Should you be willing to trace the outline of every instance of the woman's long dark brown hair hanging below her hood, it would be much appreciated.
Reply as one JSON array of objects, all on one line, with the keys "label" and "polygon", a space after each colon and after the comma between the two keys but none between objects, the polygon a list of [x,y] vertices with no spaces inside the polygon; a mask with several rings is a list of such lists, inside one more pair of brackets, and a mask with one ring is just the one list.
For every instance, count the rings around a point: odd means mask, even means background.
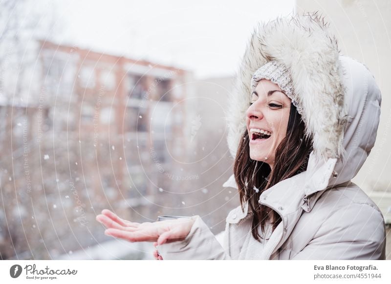
[{"label": "woman's long dark brown hair hanging below her hood", "polygon": [[[259,225],[264,232],[268,218],[271,218],[272,230],[281,222],[281,216],[276,211],[258,203],[261,193],[307,168],[308,157],[312,151],[312,138],[304,137],[304,127],[301,115],[291,103],[286,136],[276,149],[273,171],[267,163],[250,158],[250,138],[247,131],[240,140],[234,163],[234,176],[239,188],[241,206],[248,200],[248,206],[254,212],[251,231],[258,241],[261,241]],[[253,189],[254,186],[259,192]]]}]

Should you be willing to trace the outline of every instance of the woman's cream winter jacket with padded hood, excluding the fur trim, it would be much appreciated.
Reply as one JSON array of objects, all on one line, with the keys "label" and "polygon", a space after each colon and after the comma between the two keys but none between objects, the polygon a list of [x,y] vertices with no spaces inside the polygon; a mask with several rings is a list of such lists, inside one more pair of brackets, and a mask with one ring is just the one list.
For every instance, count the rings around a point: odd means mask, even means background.
[{"label": "woman's cream winter jacket with padded hood, excluding the fur trim", "polygon": [[[197,215],[185,240],[157,246],[164,260],[385,259],[382,213],[351,182],[374,145],[381,94],[363,64],[345,56],[338,61],[348,114],[344,158],[318,158],[312,152],[306,171],[262,192],[259,203],[282,218],[266,241],[252,237],[252,212],[245,203],[228,214],[222,245]],[[223,186],[238,188],[233,176]]]}]

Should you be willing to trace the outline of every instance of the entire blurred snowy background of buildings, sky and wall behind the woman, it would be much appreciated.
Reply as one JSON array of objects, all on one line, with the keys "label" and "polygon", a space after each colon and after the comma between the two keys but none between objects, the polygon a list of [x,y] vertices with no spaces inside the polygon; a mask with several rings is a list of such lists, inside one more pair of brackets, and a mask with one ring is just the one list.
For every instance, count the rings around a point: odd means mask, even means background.
[{"label": "entire blurred snowy background of buildings, sky and wall behind the woman", "polygon": [[312,11],[382,90],[353,182],[390,224],[391,1],[0,0],[0,259],[153,259],[104,235],[104,208],[200,215],[219,238],[239,205],[222,184],[240,58],[259,21]]}]

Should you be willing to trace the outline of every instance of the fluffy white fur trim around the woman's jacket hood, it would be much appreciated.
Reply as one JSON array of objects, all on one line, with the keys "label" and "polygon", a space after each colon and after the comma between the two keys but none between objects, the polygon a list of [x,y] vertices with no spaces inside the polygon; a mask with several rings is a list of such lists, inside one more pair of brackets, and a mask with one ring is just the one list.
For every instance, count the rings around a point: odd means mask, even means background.
[{"label": "fluffy white fur trim around the woman's jacket hood", "polygon": [[313,136],[314,154],[325,159],[343,155],[347,115],[338,58],[337,41],[316,13],[260,23],[247,45],[229,97],[227,141],[232,157],[246,131],[251,78],[271,60],[282,61],[291,72],[294,91],[304,109],[305,135]]}]

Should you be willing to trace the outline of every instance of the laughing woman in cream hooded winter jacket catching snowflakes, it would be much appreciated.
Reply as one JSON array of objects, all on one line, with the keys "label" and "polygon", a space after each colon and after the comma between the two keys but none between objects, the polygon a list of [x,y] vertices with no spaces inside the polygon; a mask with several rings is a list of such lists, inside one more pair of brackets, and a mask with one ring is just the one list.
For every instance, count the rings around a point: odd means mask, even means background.
[{"label": "laughing woman in cream hooded winter jacket catching snowflakes", "polygon": [[131,223],[109,210],[106,234],[155,242],[158,259],[385,259],[379,208],[351,179],[374,145],[380,91],[361,63],[341,56],[317,14],[260,25],[230,98],[241,206],[222,245],[196,215]]}]

